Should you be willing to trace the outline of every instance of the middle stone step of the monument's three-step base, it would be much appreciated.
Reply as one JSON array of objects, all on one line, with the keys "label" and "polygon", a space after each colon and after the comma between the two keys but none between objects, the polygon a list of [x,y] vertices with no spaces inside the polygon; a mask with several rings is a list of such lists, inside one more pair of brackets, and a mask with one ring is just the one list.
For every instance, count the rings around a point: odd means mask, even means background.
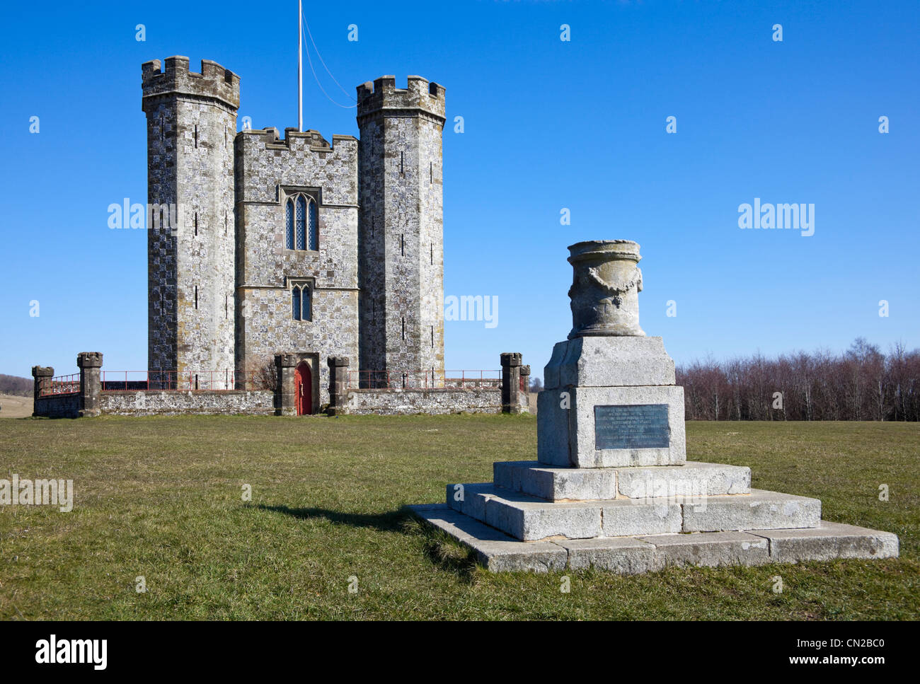
[{"label": "middle stone step of the monument's three-step base", "polygon": [[447,485],[447,505],[523,542],[678,532],[814,528],[821,501],[752,489],[747,495],[550,502],[478,483]]}]

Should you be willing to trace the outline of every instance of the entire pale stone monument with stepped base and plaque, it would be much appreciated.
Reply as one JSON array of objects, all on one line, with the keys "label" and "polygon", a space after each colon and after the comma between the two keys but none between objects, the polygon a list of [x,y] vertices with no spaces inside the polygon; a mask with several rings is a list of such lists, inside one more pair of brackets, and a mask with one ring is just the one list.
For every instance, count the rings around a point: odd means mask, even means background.
[{"label": "entire pale stone monument with stepped base and plaque", "polygon": [[796,563],[898,555],[891,532],[821,519],[821,501],[751,487],[750,468],[687,462],[684,388],[638,323],[639,245],[569,246],[572,330],[537,402],[536,461],[447,485],[410,510],[491,571]]}]

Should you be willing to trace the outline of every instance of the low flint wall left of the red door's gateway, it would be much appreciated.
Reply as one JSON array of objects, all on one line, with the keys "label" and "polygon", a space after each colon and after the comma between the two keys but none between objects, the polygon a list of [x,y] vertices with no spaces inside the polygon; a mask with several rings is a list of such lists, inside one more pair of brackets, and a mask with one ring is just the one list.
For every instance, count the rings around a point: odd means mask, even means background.
[{"label": "low flint wall left of the red door's gateway", "polygon": [[271,390],[107,391],[99,393],[99,409],[103,416],[178,416],[180,414],[273,416],[275,393]]}]

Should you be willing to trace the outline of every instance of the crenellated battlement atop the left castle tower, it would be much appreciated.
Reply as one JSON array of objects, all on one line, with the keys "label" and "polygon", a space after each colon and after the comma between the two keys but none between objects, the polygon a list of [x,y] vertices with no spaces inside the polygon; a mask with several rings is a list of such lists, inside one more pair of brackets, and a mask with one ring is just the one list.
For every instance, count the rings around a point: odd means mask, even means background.
[{"label": "crenellated battlement atop the left castle tower", "polygon": [[211,60],[201,60],[201,73],[189,71],[189,58],[167,57],[166,69],[159,60],[141,65],[144,101],[148,97],[180,93],[208,97],[236,110],[239,108],[239,76]]}]

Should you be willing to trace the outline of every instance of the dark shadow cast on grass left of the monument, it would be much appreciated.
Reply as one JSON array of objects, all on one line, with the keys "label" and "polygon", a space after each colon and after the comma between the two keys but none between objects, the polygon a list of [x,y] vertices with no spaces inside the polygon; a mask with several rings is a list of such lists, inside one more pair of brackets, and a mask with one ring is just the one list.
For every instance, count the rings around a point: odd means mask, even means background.
[{"label": "dark shadow cast on grass left of the monument", "polygon": [[416,518],[406,507],[379,514],[343,513],[328,508],[292,508],[289,506],[267,506],[266,504],[248,505],[248,507],[282,513],[298,520],[326,519],[340,525],[356,528],[374,528],[387,532],[401,532],[420,541],[425,556],[439,569],[457,576],[464,582],[473,581],[476,570],[476,553],[462,544],[454,542],[441,530],[435,530]]}]

